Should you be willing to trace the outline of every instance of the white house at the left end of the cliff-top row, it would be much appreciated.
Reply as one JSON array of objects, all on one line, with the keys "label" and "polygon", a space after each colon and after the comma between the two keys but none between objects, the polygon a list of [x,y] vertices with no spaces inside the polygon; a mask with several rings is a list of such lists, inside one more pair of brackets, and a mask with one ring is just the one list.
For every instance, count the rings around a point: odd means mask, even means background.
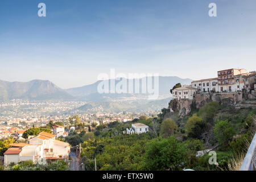
[{"label": "white house at the left end of the cliff-top row", "polygon": [[196,88],[193,88],[192,86],[184,85],[172,90],[172,97],[177,99],[183,98],[183,99],[193,100],[193,96],[196,92],[197,92]]}]

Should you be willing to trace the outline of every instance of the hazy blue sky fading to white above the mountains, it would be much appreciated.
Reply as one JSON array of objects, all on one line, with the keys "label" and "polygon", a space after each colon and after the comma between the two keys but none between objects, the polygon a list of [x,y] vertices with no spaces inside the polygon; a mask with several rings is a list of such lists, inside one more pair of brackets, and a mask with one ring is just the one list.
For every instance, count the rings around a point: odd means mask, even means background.
[{"label": "hazy blue sky fading to white above the mountains", "polygon": [[[38,16],[44,2],[47,16]],[[217,17],[208,5],[217,4]],[[216,77],[256,68],[255,0],[1,0],[0,80],[61,88],[99,73]]]}]

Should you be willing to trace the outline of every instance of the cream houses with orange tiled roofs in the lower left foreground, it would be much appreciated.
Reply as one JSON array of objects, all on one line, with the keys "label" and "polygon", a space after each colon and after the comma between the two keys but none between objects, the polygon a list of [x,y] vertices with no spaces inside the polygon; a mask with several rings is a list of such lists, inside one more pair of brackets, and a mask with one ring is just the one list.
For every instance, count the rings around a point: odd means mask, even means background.
[{"label": "cream houses with orange tiled roofs in the lower left foreground", "polygon": [[41,132],[28,139],[28,143],[13,143],[4,153],[5,165],[32,160],[34,163],[46,163],[46,159],[68,159],[70,146],[66,142],[56,140],[55,134]]}]

